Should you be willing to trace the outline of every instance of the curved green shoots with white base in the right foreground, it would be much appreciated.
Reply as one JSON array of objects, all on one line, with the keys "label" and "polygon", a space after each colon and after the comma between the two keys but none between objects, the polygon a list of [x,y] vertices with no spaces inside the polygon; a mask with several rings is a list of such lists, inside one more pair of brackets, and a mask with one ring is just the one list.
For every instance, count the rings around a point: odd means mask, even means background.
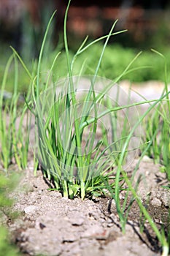
[{"label": "curved green shoots with white base in the right foreground", "polygon": [[[142,200],[139,197],[139,195],[137,194],[137,188],[138,188],[138,184],[139,181],[137,181],[136,186],[132,185],[133,181],[134,181],[134,175],[139,167],[139,163],[142,161],[142,158],[144,157],[145,154],[147,154],[147,151],[150,149],[150,147],[153,145],[153,140],[155,139],[154,136],[152,136],[152,138],[150,138],[150,141],[148,141],[147,144],[145,144],[144,150],[142,151],[142,155],[139,158],[138,163],[136,164],[136,168],[134,170],[134,174],[131,178],[128,178],[127,173],[125,173],[125,170],[123,170],[123,159],[125,157],[126,154],[126,150],[128,147],[128,143],[131,140],[131,136],[133,135],[135,129],[142,124],[142,121],[144,120],[144,118],[146,118],[146,116],[148,116],[150,114],[150,111],[152,111],[153,109],[157,108],[157,106],[159,106],[161,104],[161,102],[163,102],[163,99],[166,99],[167,97],[169,97],[169,91],[165,92],[165,94],[163,94],[161,96],[160,99],[157,100],[153,100],[152,105],[150,105],[150,108],[148,108],[148,110],[139,118],[139,121],[136,122],[136,124],[134,125],[134,127],[131,129],[131,132],[129,133],[128,137],[125,140],[124,146],[123,146],[123,150],[120,153],[120,158],[119,158],[119,164],[117,167],[117,173],[116,173],[116,178],[115,178],[115,194],[112,194],[112,197],[115,199],[115,203],[117,206],[117,214],[120,217],[120,223],[123,229],[123,232],[125,232],[125,224],[128,220],[128,213],[130,211],[130,208],[132,206],[132,203],[134,200],[136,200],[136,203],[138,203],[139,208],[144,216],[144,219],[147,219],[147,222],[150,223],[150,227],[152,227],[152,230],[154,230],[156,236],[158,237],[158,241],[160,241],[161,246],[163,246],[163,256],[167,256],[169,255],[169,243],[166,239],[164,230],[158,230],[158,227],[155,225],[155,223],[152,220],[152,217],[150,217],[150,214],[147,212],[147,209],[143,206],[142,204]],[[144,101],[145,103],[150,103],[150,101]],[[142,104],[142,102],[140,102],[140,104]],[[158,107],[159,108],[159,107]],[[168,157],[168,152],[166,152],[166,157]],[[125,195],[125,200],[123,202],[123,206],[121,206],[120,204],[120,185],[119,185],[119,178],[120,175],[123,176],[123,180],[125,181],[125,184],[127,184],[128,189]],[[131,193],[131,201],[130,203],[128,203],[128,196],[129,193]],[[125,210],[126,209],[126,210]]]}]

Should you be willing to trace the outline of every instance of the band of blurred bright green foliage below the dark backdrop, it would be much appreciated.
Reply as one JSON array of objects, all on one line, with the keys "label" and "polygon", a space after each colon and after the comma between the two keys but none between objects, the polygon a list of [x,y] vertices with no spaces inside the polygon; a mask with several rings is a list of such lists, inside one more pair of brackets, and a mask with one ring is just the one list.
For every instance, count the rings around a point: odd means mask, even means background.
[{"label": "band of blurred bright green foliage below the dark backdrop", "polygon": [[[45,55],[43,56],[42,61],[42,72],[44,72],[44,78],[47,78],[47,72],[50,70],[50,67],[53,63],[54,56],[61,50],[61,54],[56,61],[54,72],[53,72],[53,82],[58,80],[58,78],[65,77],[67,75],[66,69],[66,56],[64,50],[62,49],[62,45],[58,45],[55,50],[48,50],[46,48]],[[98,63],[98,59],[100,57],[102,50],[101,44],[93,45],[93,47],[86,50],[80,56],[77,57],[77,60],[74,63],[74,75],[79,75],[80,69],[83,67],[82,74],[83,75],[93,75],[94,70],[96,69],[96,65]],[[170,50],[169,48],[164,49],[155,49],[161,51],[167,59],[167,66],[170,67]],[[9,52],[7,55],[9,56]],[[118,75],[120,75],[125,67],[130,63],[132,59],[139,53],[139,50],[134,48],[124,48],[121,45],[108,45],[107,49],[104,53],[104,59],[101,62],[101,67],[99,69],[98,75],[109,78],[115,79]],[[71,57],[74,56],[74,51],[71,51]],[[4,67],[7,62],[5,56],[2,54],[1,62],[0,62],[0,83],[2,81],[4,75]],[[36,61],[27,61],[25,60],[28,69],[32,70],[33,67],[36,67]],[[156,56],[155,53],[152,53],[150,49],[144,50],[142,55],[139,56],[133,67],[146,67],[142,69],[138,69],[134,72],[130,72],[128,75],[123,77],[124,79],[131,80],[131,82],[144,82],[147,80],[163,80],[164,74],[163,70],[163,60],[160,60],[159,56]],[[10,73],[8,74],[7,79],[7,91],[12,91],[14,85],[14,75],[15,70],[14,67],[11,67]],[[168,82],[170,82],[170,72],[168,70]],[[20,72],[19,72],[19,81],[18,81],[18,89],[21,92],[28,91],[28,86],[30,86],[30,80],[28,75],[24,71],[23,67],[20,65]],[[43,83],[43,81],[42,81]],[[1,86],[0,86],[1,87]]]}]

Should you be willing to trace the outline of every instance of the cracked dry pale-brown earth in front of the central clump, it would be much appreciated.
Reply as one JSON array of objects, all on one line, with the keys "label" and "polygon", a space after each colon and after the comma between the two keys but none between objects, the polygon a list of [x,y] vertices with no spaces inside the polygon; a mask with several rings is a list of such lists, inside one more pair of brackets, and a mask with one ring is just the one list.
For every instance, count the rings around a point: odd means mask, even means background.
[{"label": "cracked dry pale-brown earth in front of the central clump", "polygon": [[[159,168],[160,165],[144,159],[136,179],[142,174],[139,195],[158,227],[161,227],[169,222],[170,192],[161,187],[166,177]],[[128,171],[130,176],[132,170],[131,165]],[[123,234],[114,200],[107,197],[69,200],[59,192],[47,189],[41,171],[34,176],[30,163],[12,195],[15,197],[13,211],[18,211],[20,215],[12,222],[6,219],[13,240],[23,255],[161,255],[158,240],[147,222],[143,233],[140,233],[140,212],[136,203],[131,208]],[[122,203],[123,198],[122,192]]]}]

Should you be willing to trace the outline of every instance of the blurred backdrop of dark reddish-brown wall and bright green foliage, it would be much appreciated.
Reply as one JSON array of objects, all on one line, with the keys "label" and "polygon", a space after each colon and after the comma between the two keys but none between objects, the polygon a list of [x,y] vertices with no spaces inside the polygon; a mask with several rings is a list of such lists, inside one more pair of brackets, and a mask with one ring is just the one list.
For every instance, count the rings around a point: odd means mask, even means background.
[{"label": "blurred backdrop of dark reddish-brown wall and bright green foliage", "polygon": [[[114,3],[113,3],[114,2]],[[47,22],[53,11],[57,13],[50,29],[42,70],[47,72],[55,54],[61,55],[55,65],[53,80],[66,75],[66,59],[63,48],[63,16],[68,1],[58,0],[0,0],[0,82],[4,75],[7,59],[14,47],[31,70],[39,56]],[[160,51],[170,61],[170,4],[169,1],[76,1],[72,0],[68,18],[68,35],[71,55],[80,46],[85,36],[89,41],[109,32],[112,23],[118,19],[115,31],[128,29],[110,39],[98,75],[114,79],[123,72],[128,63],[143,51],[134,67],[147,66],[126,75],[123,79],[132,82],[163,80],[163,60],[152,53],[150,48]],[[85,61],[84,74],[93,74],[101,53],[102,42],[94,45],[80,56],[74,66],[77,75]],[[148,67],[150,66],[150,67]],[[7,90],[13,88],[14,69],[11,67],[7,80]],[[169,81],[168,77],[168,81]],[[18,86],[27,91],[29,79],[20,67]]]}]

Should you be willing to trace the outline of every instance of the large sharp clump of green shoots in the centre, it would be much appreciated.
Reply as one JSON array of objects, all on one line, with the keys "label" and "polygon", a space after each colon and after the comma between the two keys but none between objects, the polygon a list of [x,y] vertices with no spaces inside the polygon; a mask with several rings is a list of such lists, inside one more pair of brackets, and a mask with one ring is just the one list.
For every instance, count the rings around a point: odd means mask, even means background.
[{"label": "large sharp clump of green shoots in the centre", "polygon": [[[101,193],[105,193],[106,190],[108,191],[108,186],[112,187],[112,190],[114,190],[115,175],[113,175],[113,173],[115,172],[115,163],[118,162],[117,154],[120,154],[121,148],[119,147],[118,151],[113,150],[113,148],[115,149],[115,143],[120,143],[123,147],[122,141],[125,140],[125,135],[124,138],[120,138],[119,141],[112,141],[110,143],[107,140],[106,129],[101,129],[101,140],[98,140],[96,143],[97,131],[98,128],[101,128],[98,127],[98,122],[102,117],[107,116],[107,114],[111,116],[112,120],[111,113],[131,106],[106,105],[106,99],[104,97],[107,95],[107,91],[109,91],[126,72],[129,72],[128,69],[136,58],[131,61],[123,74],[114,81],[109,81],[107,86],[100,93],[96,93],[95,86],[97,83],[98,69],[101,65],[104,50],[107,47],[109,38],[122,31],[112,33],[116,21],[107,36],[96,39],[88,45],[85,45],[88,39],[85,38],[85,41],[82,42],[82,45],[71,60],[66,36],[68,10],[69,5],[66,9],[63,32],[68,77],[65,80],[63,79],[63,89],[61,89],[60,94],[57,95],[56,91],[60,83],[58,82],[56,85],[51,86],[50,76],[53,74],[53,67],[60,54],[58,53],[50,68],[47,82],[42,89],[42,54],[45,48],[47,31],[53,19],[52,16],[42,42],[37,73],[32,83],[34,108],[30,108],[36,118],[36,153],[45,177],[53,182],[55,189],[61,191],[63,196],[70,198],[80,196],[84,199],[85,196],[101,195]],[[53,15],[55,15],[55,13]],[[82,70],[80,70],[80,76],[77,77],[77,82],[75,82],[73,77],[74,61],[76,61],[77,57],[82,52],[101,39],[106,39],[106,41],[98,60],[96,72],[90,77],[90,88],[86,91],[84,99],[80,102],[80,99],[77,97],[76,84],[79,83]],[[98,111],[98,106],[101,105],[105,105],[107,108],[100,112]],[[113,125],[112,123],[111,126]],[[112,127],[111,130],[115,132],[114,127]],[[89,132],[88,135],[87,132]],[[110,180],[112,180],[112,183],[110,183]],[[119,181],[120,180],[121,178],[119,178]],[[119,189],[121,189],[121,186],[122,184]]]}]

